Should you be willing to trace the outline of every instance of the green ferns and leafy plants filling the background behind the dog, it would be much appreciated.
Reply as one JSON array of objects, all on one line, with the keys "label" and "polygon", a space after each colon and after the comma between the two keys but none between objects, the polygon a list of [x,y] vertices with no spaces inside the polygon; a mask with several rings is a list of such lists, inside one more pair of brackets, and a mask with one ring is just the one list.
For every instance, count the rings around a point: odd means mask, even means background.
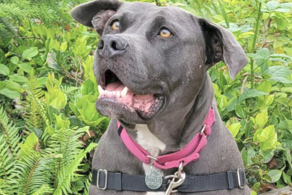
[{"label": "green ferns and leafy plants filling the background behind the dog", "polygon": [[[230,30],[249,63],[235,80],[209,71],[253,194],[291,185],[292,3],[145,0],[179,6]],[[84,0],[0,0],[0,194],[88,194],[99,37],[68,12]]]}]

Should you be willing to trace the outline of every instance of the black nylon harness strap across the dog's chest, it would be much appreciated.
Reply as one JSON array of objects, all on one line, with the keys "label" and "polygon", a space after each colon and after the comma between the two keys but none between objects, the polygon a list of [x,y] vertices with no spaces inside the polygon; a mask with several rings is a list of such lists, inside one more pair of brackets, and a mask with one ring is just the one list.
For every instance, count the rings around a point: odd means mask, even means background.
[{"label": "black nylon harness strap across the dog's chest", "polygon": [[[240,186],[238,175],[240,178]],[[97,170],[92,170],[92,185],[97,185]],[[159,189],[153,190],[145,184],[145,175],[128,175],[122,173],[107,172],[104,170],[99,171],[99,188],[113,189],[116,191],[163,191],[165,192],[168,187],[169,180],[163,179],[162,185]],[[227,171],[223,173],[215,173],[210,175],[187,175],[184,183],[177,188],[179,192],[203,192],[222,189],[243,188],[246,184],[245,171],[239,169],[238,171]]]}]

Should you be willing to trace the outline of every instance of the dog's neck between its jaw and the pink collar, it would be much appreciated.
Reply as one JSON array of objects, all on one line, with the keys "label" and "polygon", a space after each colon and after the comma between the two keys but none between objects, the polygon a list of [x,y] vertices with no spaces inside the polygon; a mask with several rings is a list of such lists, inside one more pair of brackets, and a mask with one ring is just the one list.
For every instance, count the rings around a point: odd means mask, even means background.
[{"label": "dog's neck between its jaw and the pink collar", "polygon": [[175,120],[173,117],[170,117],[171,120],[168,117],[159,118],[147,125],[136,125],[135,133],[128,132],[139,145],[154,156],[177,151],[201,131],[213,98],[214,90],[207,73],[200,92],[184,115],[181,114],[181,110],[178,110],[178,113],[170,113],[172,116],[177,116]]}]

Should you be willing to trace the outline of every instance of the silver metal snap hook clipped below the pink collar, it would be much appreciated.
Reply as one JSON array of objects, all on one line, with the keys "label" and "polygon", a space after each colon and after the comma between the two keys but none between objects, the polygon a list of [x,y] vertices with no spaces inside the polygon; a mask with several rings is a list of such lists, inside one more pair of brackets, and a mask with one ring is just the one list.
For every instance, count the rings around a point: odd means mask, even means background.
[{"label": "silver metal snap hook clipped below the pink collar", "polygon": [[[178,192],[177,190],[173,190],[173,189],[179,187],[185,181],[185,172],[182,170],[182,168],[183,168],[183,162],[180,163],[178,171],[174,173],[174,175],[168,175],[164,177],[164,179],[172,178],[172,180],[169,182],[168,188],[165,191],[164,195],[170,195],[171,193]],[[175,181],[176,179],[178,180]]]}]

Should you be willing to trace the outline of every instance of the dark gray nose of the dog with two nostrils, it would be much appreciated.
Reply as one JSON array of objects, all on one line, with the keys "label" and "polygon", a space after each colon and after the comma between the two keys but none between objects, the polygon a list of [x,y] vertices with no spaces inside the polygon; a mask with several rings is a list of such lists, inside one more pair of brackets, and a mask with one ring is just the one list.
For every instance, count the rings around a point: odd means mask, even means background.
[{"label": "dark gray nose of the dog with two nostrils", "polygon": [[127,46],[127,41],[119,35],[106,34],[99,40],[97,48],[100,55],[112,56],[123,53]]}]

